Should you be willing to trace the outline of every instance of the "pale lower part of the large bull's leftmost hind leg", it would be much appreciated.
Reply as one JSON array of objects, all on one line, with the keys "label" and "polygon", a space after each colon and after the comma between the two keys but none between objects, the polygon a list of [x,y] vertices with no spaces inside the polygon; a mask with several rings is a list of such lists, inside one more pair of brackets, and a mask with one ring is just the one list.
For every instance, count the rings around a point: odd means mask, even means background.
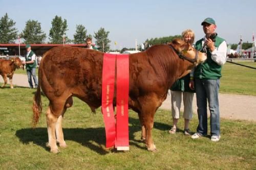
[{"label": "pale lower part of the large bull's leftmost hind leg", "polygon": [[51,148],[51,152],[56,154],[59,152],[57,143],[56,143],[56,135],[55,135],[55,126],[57,123],[57,117],[55,117],[51,113],[50,107],[48,107],[46,111],[46,120],[47,120],[47,131],[48,131],[48,140],[49,140],[48,144]]}]

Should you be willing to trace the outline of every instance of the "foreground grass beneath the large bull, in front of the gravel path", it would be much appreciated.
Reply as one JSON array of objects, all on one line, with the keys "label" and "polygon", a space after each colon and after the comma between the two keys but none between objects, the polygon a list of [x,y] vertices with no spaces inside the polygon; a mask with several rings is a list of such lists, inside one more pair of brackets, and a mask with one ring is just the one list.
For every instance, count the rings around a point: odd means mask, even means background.
[{"label": "foreground grass beneath the large bull, in front of the gravel path", "polygon": [[[68,148],[51,154],[45,110],[36,129],[31,128],[32,98],[35,89],[0,89],[0,169],[256,169],[256,124],[221,119],[221,140],[209,136],[193,140],[171,128],[170,112],[157,111],[153,130],[157,152],[148,152],[140,142],[138,116],[130,112],[130,151],[105,149],[105,132],[100,110],[91,113],[87,105],[74,98],[65,114],[63,132]],[[194,115],[190,129],[195,132]],[[183,127],[181,119],[178,126]]]}]

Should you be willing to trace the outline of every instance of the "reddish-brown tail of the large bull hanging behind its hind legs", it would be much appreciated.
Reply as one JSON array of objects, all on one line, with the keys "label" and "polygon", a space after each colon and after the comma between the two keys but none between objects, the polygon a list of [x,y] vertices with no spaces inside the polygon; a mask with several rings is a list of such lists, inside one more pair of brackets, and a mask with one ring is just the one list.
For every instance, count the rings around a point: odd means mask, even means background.
[{"label": "reddish-brown tail of the large bull hanging behind its hind legs", "polygon": [[32,120],[32,126],[33,128],[36,127],[36,124],[38,123],[40,114],[42,112],[42,103],[41,103],[41,88],[40,88],[40,82],[38,83],[36,93],[34,95],[33,99],[33,120]]}]

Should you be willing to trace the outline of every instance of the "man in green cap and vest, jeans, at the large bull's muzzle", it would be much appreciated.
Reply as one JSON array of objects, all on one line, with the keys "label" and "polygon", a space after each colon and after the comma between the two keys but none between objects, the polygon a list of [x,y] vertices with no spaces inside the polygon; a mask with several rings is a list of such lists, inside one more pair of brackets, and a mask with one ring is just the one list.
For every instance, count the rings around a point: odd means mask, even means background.
[{"label": "man in green cap and vest, jeans, at the large bull's muzzle", "polygon": [[219,88],[222,65],[226,62],[227,43],[217,36],[215,20],[206,18],[201,25],[205,37],[196,42],[195,48],[207,54],[204,63],[195,68],[195,89],[199,124],[193,139],[207,135],[207,100],[210,110],[211,141],[220,140]]}]

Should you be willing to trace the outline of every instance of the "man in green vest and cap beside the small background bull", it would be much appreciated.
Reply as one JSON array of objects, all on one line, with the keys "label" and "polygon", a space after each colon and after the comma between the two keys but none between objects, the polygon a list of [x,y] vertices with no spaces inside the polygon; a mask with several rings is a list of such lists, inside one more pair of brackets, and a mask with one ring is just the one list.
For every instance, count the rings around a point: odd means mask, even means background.
[{"label": "man in green vest and cap beside the small background bull", "polygon": [[33,88],[33,83],[31,79],[31,76],[32,76],[34,79],[35,88],[37,88],[38,82],[37,82],[36,73],[35,73],[35,69],[36,69],[35,53],[31,50],[30,44],[26,45],[26,50],[27,50],[27,54],[25,56],[26,61],[24,61],[24,64],[26,64],[29,87]]}]

